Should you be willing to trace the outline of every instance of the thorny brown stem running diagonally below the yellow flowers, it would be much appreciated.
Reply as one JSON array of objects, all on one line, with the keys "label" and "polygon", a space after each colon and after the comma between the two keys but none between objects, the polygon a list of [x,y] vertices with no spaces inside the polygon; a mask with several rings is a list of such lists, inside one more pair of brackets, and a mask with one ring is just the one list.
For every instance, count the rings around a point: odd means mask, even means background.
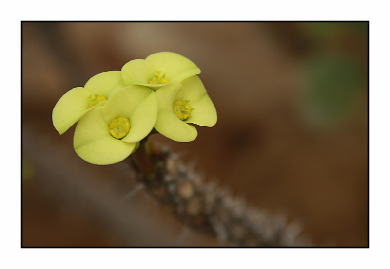
[{"label": "thorny brown stem running diagonally below the yellow flowers", "polygon": [[234,246],[301,246],[295,224],[271,217],[206,183],[167,148],[146,142],[131,155],[137,180],[158,202],[175,209],[187,226]]}]

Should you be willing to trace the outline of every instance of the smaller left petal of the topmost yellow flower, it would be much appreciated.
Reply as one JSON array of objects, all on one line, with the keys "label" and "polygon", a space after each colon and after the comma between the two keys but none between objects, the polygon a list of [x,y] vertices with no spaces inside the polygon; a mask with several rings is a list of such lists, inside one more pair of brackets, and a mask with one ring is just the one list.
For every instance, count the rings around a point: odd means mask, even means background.
[{"label": "smaller left petal of the topmost yellow flower", "polygon": [[122,78],[126,85],[147,84],[156,74],[153,66],[142,59],[132,60],[122,67]]}]

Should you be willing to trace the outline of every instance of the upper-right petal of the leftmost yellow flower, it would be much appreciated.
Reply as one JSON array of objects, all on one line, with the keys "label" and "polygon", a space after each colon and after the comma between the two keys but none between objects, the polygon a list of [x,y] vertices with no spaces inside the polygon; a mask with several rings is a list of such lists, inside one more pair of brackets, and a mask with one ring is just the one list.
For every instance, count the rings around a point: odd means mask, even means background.
[{"label": "upper-right petal of the leftmost yellow flower", "polygon": [[93,94],[98,94],[110,98],[116,90],[119,90],[126,85],[122,79],[122,72],[107,71],[91,77],[84,88],[90,90]]}]

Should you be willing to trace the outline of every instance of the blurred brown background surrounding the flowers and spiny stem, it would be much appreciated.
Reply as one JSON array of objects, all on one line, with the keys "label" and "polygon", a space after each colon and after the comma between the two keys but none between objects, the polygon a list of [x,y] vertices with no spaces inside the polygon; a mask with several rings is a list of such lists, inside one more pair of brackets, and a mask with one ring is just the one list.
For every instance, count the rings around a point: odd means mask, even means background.
[{"label": "blurred brown background surrounding the flowers and spiny stem", "polygon": [[153,135],[316,245],[368,245],[368,23],[22,23],[22,246],[219,246],[96,166],[52,109],[93,75],[160,51],[191,59],[218,112],[194,142]]}]

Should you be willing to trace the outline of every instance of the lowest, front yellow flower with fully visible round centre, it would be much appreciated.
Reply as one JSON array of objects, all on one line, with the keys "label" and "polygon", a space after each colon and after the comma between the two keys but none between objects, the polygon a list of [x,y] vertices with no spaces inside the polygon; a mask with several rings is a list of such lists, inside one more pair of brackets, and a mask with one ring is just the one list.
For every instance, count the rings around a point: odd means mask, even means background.
[{"label": "lowest, front yellow flower with fully visible round centre", "polygon": [[[123,161],[152,131],[156,116],[157,98],[153,90],[138,85],[124,87],[117,90],[104,106],[88,111],[79,120],[73,146],[79,157],[93,164]],[[124,137],[115,138],[109,130],[115,123],[127,120],[129,127],[119,129]]]}]

